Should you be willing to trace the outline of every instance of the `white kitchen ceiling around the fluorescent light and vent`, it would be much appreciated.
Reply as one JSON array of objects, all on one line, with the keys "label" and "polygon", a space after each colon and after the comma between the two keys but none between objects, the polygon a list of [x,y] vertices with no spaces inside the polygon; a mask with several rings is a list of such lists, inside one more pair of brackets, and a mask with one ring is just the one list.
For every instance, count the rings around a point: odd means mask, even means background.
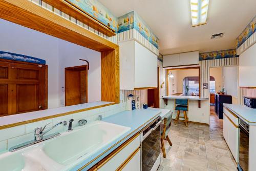
[{"label": "white kitchen ceiling around the fluorescent light and vent", "polygon": [[[255,0],[209,0],[207,24],[191,27],[189,0],[99,1],[116,16],[135,10],[159,37],[162,54],[236,48],[236,38],[256,14]],[[210,39],[221,32],[221,39]]]}]

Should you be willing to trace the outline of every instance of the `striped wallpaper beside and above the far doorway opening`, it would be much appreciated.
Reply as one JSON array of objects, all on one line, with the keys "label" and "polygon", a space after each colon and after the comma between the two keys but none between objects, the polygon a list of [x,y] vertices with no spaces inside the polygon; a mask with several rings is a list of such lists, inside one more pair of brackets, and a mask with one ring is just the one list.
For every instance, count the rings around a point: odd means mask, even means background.
[{"label": "striped wallpaper beside and above the far doorway opening", "polygon": [[217,60],[204,60],[199,61],[199,66],[201,69],[201,97],[209,98],[209,89],[203,89],[203,83],[208,83],[210,77],[210,67],[222,67],[222,66],[238,66],[239,58],[225,58]]}]

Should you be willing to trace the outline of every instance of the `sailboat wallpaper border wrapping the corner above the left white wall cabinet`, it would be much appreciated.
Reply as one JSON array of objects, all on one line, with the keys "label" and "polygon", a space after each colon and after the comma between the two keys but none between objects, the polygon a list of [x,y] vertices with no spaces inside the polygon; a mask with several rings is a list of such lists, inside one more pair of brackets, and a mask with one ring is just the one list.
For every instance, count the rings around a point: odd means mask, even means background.
[{"label": "sailboat wallpaper border wrapping the corner above the left white wall cabinet", "polygon": [[118,33],[131,29],[137,30],[143,37],[145,37],[146,40],[148,40],[157,49],[159,49],[158,37],[152,32],[151,28],[147,26],[147,24],[135,11],[118,17]]}]

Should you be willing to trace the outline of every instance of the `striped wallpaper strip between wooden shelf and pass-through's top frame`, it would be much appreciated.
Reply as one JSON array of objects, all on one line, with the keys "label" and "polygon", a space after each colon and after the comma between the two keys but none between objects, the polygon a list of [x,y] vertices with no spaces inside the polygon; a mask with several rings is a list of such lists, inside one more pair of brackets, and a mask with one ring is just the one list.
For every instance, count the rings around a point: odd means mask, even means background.
[{"label": "striped wallpaper strip between wooden shelf and pass-through's top frame", "polygon": [[99,32],[98,30],[95,30],[95,29],[91,28],[90,26],[80,22],[79,20],[76,20],[76,18],[71,17],[70,15],[66,14],[65,12],[62,12],[62,11],[58,10],[57,8],[54,8],[53,6],[45,3],[42,0],[28,0],[28,1],[30,1],[30,2],[40,6],[42,8],[45,8],[48,11],[50,11],[50,12],[56,14],[56,15],[59,15],[62,18],[65,18],[66,20],[68,20],[68,21],[70,21],[70,22],[72,22],[72,23],[74,23],[74,24],[76,24],[76,25],[78,25],[78,26],[80,26],[80,27],[82,27],[84,29],[87,29],[87,30],[89,30],[89,31],[91,31],[91,32],[93,32],[93,33],[103,37],[104,39],[106,39],[108,41],[111,41],[111,42],[117,44],[117,35],[109,37],[109,36]]}]

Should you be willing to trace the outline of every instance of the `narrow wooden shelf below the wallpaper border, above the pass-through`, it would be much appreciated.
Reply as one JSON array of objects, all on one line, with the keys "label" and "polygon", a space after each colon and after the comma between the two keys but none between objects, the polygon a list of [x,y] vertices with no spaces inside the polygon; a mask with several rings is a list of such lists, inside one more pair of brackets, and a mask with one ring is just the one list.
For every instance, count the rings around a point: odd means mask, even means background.
[{"label": "narrow wooden shelf below the wallpaper border, above the pass-through", "polygon": [[89,27],[92,27],[93,29],[96,29],[103,34],[107,36],[113,36],[116,35],[115,30],[111,29],[110,27],[107,27],[103,25],[100,21],[98,21],[93,16],[86,13],[86,11],[82,10],[75,4],[71,4],[70,2],[63,1],[63,0],[43,0],[47,4],[52,5],[54,8],[57,8],[58,10],[61,10],[62,12],[65,12],[66,14],[76,18],[80,22],[83,22],[84,24],[88,25]]}]

